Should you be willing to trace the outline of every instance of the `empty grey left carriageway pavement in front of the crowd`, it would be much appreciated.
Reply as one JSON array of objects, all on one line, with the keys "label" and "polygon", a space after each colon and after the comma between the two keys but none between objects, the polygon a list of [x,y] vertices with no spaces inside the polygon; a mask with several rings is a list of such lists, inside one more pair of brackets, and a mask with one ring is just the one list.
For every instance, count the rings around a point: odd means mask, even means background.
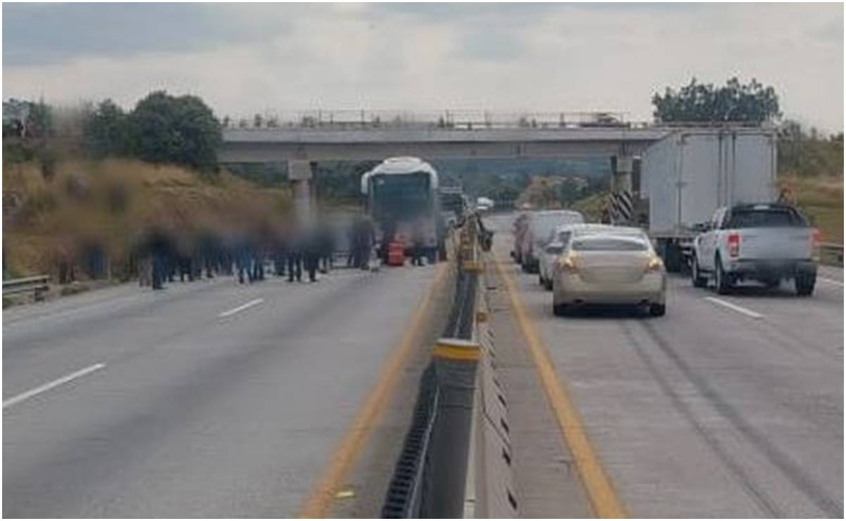
[{"label": "empty grey left carriageway pavement in front of the crowd", "polygon": [[19,310],[4,400],[105,367],[3,409],[4,516],[294,515],[435,270]]}]

